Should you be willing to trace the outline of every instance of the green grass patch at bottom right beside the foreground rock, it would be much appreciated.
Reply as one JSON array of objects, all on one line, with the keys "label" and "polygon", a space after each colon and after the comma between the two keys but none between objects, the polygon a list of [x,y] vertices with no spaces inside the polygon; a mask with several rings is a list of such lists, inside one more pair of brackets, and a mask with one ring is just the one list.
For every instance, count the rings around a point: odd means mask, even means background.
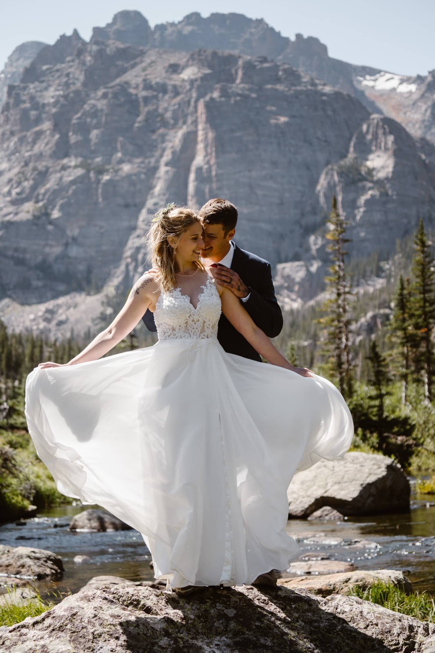
[{"label": "green grass patch at bottom right beside the foreground rock", "polygon": [[359,586],[351,588],[350,596],[378,603],[384,608],[408,614],[420,621],[435,622],[434,599],[427,592],[406,594],[396,585],[376,581],[367,590],[362,590]]}]

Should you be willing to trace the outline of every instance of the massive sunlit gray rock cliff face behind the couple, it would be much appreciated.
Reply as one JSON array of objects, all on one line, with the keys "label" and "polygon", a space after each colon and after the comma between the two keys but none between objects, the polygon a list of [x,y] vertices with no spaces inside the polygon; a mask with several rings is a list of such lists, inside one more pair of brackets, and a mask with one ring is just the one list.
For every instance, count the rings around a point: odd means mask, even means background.
[{"label": "massive sunlit gray rock cliff face behind the couple", "polygon": [[281,265],[284,308],[322,287],[333,193],[350,223],[351,255],[388,255],[420,215],[432,223],[435,146],[427,138],[370,116],[352,93],[288,63],[174,49],[244,42],[239,49],[255,52],[260,41],[269,56],[287,52],[300,67],[313,53],[328,59],[317,39],[298,35],[290,46],[239,14],[190,14],[151,34],[130,11],[96,28],[89,44],[74,31],[37,53],[0,116],[0,317],[8,328],[63,337],[72,315],[77,334],[95,325],[105,293],[125,295],[147,269],[142,238],[169,201],[199,208],[210,197],[231,199],[237,243]]}]

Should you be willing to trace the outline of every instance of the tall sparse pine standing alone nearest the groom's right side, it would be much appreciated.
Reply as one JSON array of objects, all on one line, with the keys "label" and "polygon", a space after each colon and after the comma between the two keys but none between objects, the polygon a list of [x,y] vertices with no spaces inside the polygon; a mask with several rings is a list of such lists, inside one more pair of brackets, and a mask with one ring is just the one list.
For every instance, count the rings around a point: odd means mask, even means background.
[{"label": "tall sparse pine standing alone nearest the groom's right side", "polygon": [[331,241],[327,251],[331,252],[333,263],[329,266],[330,276],[325,277],[327,292],[332,295],[323,304],[322,309],[327,311],[327,317],[319,321],[326,327],[327,340],[324,351],[329,355],[331,368],[338,377],[340,392],[349,398],[352,396],[351,352],[350,352],[350,311],[348,298],[352,295],[346,278],[344,245],[351,242],[346,238],[346,226],[337,208],[337,198],[333,196],[332,211],[327,219],[329,231],[326,238]]}]

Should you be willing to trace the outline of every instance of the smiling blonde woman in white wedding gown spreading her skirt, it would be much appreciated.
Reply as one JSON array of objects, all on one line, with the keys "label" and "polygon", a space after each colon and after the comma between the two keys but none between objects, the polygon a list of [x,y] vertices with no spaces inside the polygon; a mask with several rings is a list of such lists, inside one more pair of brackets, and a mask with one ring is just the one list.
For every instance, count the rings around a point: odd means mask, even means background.
[{"label": "smiling blonde woman in white wedding gown spreading her skirt", "polygon": [[[168,590],[253,584],[299,554],[287,488],[296,472],[344,456],[352,417],[337,388],[282,357],[203,266],[197,215],[157,216],[153,271],[112,324],[67,364],[27,376],[29,434],[60,492],[142,534]],[[147,308],[158,342],[101,358]],[[271,364],[222,349],[221,311]]]}]

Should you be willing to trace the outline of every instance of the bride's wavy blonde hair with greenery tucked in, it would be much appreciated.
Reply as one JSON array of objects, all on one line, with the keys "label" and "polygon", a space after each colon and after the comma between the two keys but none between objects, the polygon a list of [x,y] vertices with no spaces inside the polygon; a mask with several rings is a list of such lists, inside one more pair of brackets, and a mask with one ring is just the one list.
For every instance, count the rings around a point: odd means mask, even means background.
[{"label": "bride's wavy blonde hair with greenery tucked in", "polygon": [[[154,279],[165,291],[172,291],[176,287],[174,251],[184,232],[199,222],[200,218],[192,209],[185,206],[168,204],[160,209],[151,222],[149,232],[144,240],[147,244],[149,259],[153,269],[156,270]],[[176,239],[175,247],[168,243],[168,236]],[[201,261],[195,261],[200,270],[205,270]]]}]

